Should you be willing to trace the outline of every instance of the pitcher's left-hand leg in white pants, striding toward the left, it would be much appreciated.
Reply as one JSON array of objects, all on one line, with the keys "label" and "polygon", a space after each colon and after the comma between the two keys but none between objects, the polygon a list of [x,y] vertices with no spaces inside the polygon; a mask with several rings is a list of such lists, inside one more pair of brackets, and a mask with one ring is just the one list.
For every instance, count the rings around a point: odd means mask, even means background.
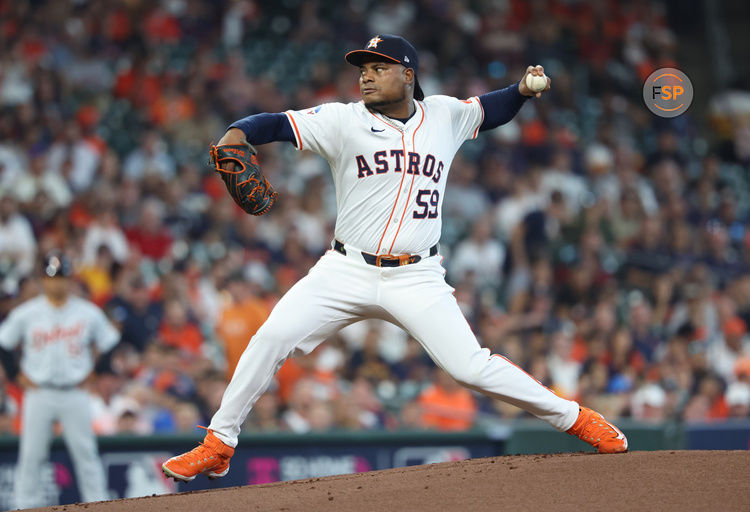
[{"label": "pitcher's left-hand leg in white pants, striding toward the left", "polygon": [[250,409],[293,351],[309,353],[360,318],[358,309],[366,300],[362,295],[374,287],[363,280],[366,276],[358,275],[359,269],[350,266],[347,261],[324,256],[281,298],[252,337],[211,419],[209,429],[222,442],[237,446]]}]

